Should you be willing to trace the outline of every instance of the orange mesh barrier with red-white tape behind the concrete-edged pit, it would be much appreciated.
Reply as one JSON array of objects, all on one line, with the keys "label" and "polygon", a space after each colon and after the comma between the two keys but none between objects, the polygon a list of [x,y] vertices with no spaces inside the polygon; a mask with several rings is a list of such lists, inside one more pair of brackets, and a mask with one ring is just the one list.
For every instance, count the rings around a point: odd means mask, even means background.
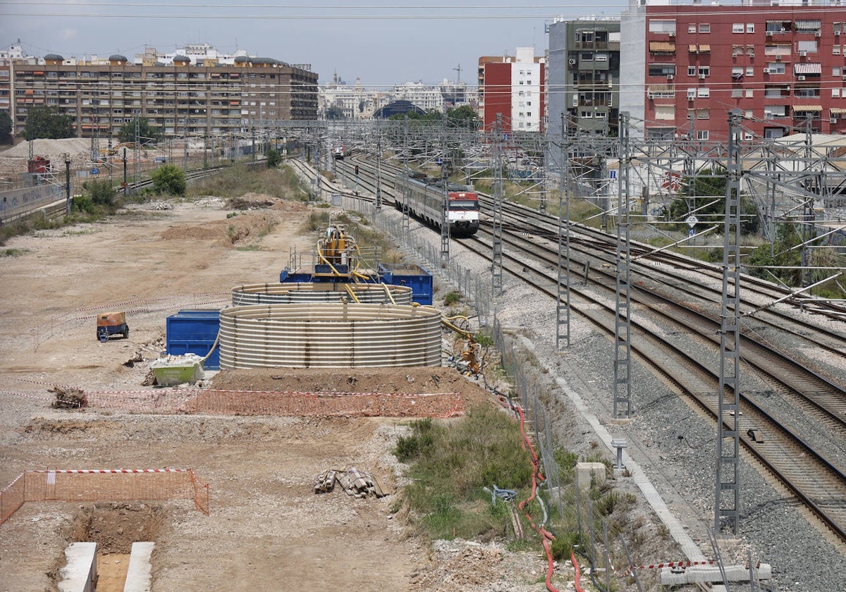
[{"label": "orange mesh barrier with red-white tape behind the concrete-edged pit", "polygon": [[209,486],[192,469],[63,469],[19,474],[0,491],[0,524],[25,502],[140,502],[193,499],[208,516]]}]

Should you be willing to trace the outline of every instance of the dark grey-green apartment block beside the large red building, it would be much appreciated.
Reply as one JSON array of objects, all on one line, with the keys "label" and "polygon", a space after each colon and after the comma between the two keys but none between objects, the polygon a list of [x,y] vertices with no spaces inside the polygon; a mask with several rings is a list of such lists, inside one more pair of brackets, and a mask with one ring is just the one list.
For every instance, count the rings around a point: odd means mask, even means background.
[{"label": "dark grey-green apartment block beside the large red building", "polygon": [[617,129],[620,75],[619,19],[557,19],[549,34],[548,133],[569,129],[608,134]]}]

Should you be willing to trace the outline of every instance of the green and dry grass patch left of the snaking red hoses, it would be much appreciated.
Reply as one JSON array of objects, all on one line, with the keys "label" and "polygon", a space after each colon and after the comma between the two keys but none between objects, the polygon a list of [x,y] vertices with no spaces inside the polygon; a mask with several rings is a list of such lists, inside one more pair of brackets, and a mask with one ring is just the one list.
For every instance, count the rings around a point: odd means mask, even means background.
[{"label": "green and dry grass patch left of the snaking red hoses", "polygon": [[481,405],[450,425],[420,419],[395,453],[410,464],[405,500],[421,531],[433,539],[504,536],[508,507],[491,503],[482,487],[520,490],[530,485],[528,453],[519,425]]}]

